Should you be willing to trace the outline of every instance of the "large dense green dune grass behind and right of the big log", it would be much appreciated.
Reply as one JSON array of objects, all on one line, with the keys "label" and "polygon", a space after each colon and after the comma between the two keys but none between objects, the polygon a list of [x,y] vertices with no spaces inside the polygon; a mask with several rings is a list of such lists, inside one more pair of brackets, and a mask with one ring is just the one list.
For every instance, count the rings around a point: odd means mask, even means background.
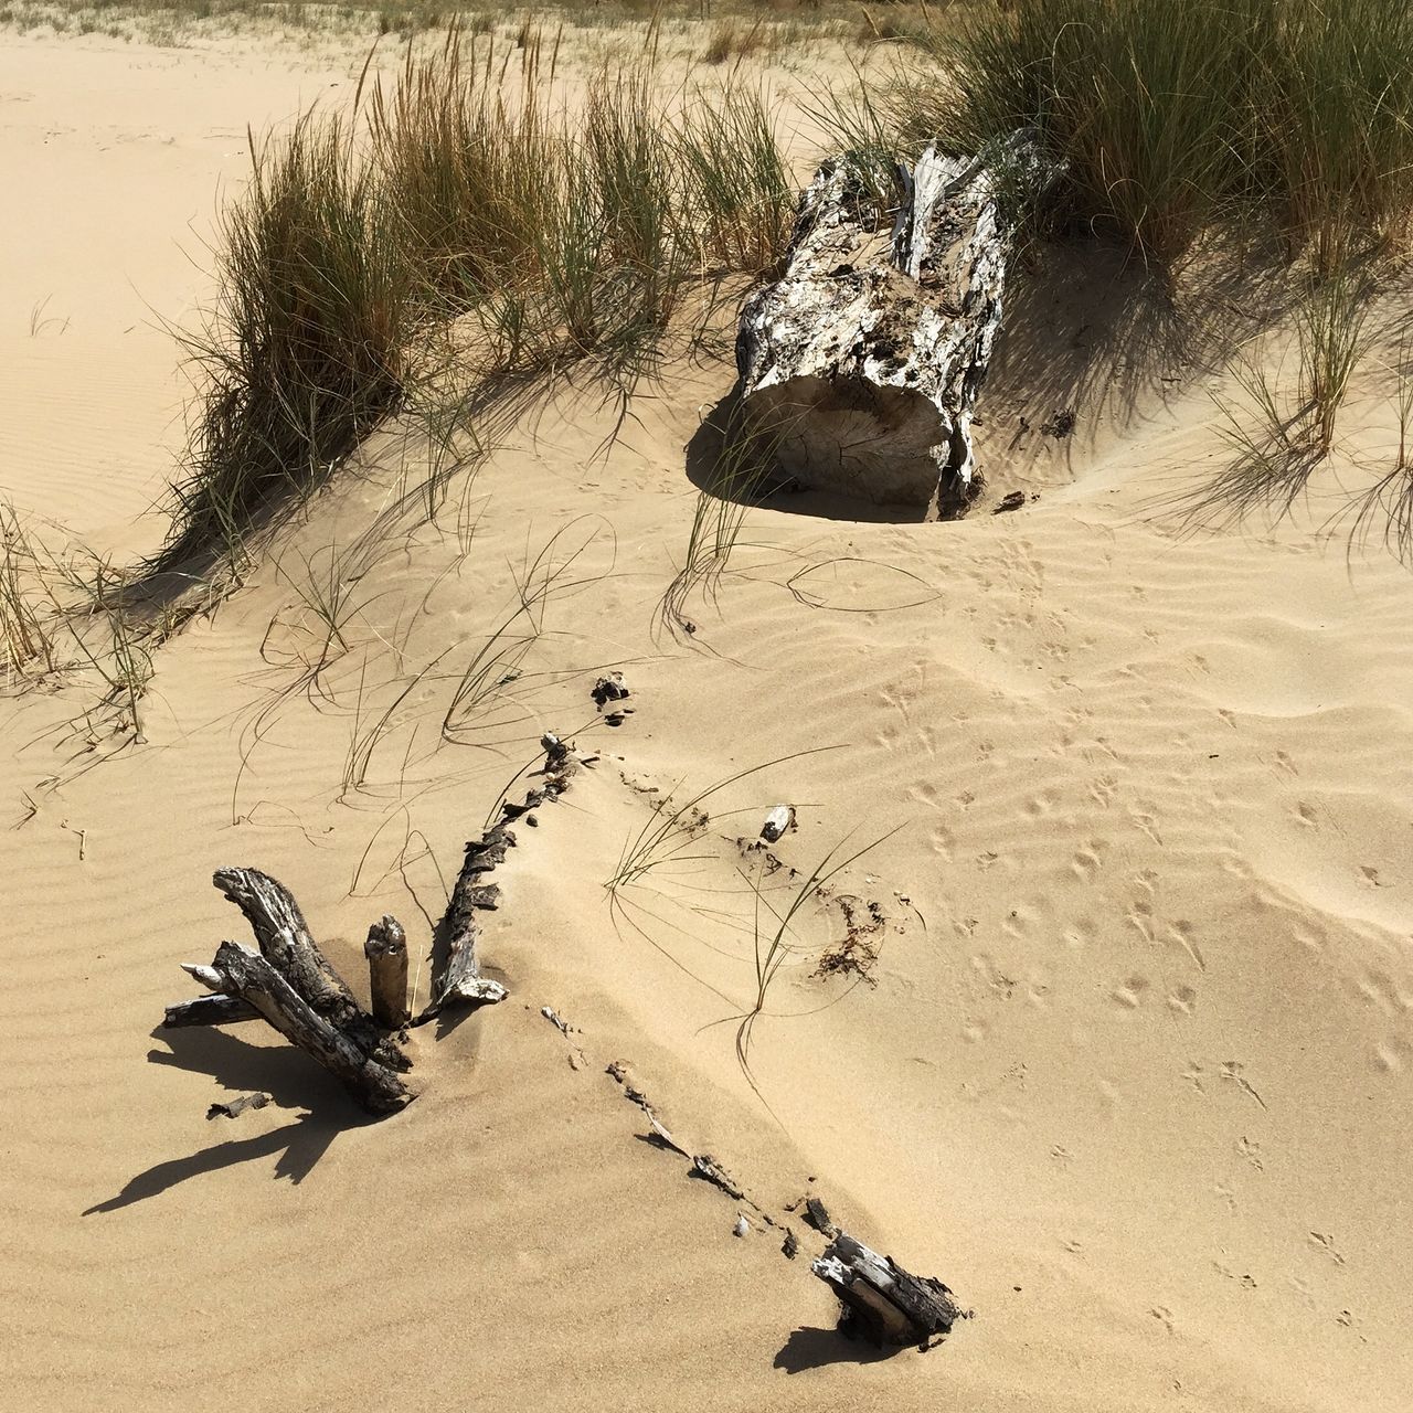
[{"label": "large dense green dune grass behind and right of the big log", "polygon": [[1010,0],[938,32],[948,76],[900,129],[978,151],[1034,127],[1064,216],[1160,263],[1214,226],[1313,244],[1406,235],[1413,13],[1402,0]]}]

